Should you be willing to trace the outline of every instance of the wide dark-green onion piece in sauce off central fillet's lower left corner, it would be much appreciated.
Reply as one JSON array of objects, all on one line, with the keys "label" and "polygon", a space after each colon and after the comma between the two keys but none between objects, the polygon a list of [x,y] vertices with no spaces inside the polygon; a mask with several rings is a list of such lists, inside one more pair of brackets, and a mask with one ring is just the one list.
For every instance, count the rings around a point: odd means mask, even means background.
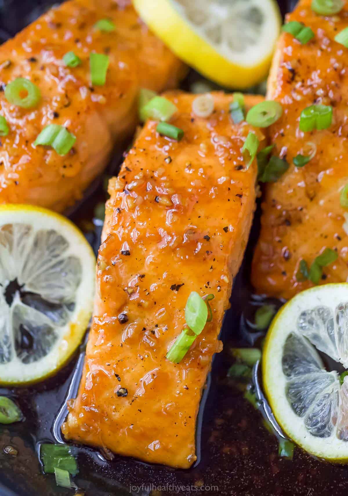
[{"label": "wide dark-green onion piece in sauce off central fillet's lower left corner", "polygon": [[40,459],[45,474],[54,474],[56,468],[67,470],[72,476],[78,473],[78,466],[67,444],[41,444]]}]

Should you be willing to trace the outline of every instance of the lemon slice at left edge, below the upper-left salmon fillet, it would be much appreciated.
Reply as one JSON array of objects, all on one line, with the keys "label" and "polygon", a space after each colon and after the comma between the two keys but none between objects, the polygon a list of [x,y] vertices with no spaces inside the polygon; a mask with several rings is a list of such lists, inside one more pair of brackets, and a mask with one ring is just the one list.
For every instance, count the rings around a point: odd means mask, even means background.
[{"label": "lemon slice at left edge, below the upper-left salmon fillet", "polygon": [[55,372],[91,317],[95,257],[65,217],[28,205],[0,206],[0,383]]}]

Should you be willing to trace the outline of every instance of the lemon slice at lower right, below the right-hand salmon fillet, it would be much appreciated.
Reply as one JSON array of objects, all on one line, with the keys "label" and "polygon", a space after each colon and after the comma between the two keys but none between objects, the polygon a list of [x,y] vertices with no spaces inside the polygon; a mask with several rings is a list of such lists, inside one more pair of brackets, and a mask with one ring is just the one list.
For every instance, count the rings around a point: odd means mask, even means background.
[{"label": "lemon slice at lower right, below the right-hand salmon fillet", "polygon": [[[336,362],[328,370],[325,363]],[[331,359],[331,360],[330,360]],[[303,449],[334,462],[348,461],[348,284],[299,293],[268,331],[263,384],[279,425]],[[341,366],[341,372],[343,368]]]}]

